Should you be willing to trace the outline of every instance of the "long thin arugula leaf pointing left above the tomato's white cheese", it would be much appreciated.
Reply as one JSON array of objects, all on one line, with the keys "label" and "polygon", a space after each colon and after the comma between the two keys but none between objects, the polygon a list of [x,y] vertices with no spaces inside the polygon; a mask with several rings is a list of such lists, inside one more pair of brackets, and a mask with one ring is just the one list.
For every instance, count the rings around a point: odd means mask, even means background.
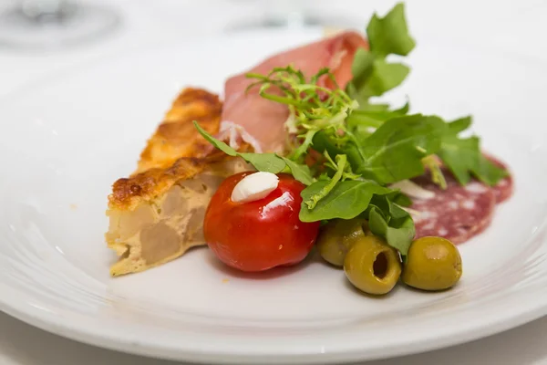
[{"label": "long thin arugula leaf pointing left above the tomato's white cheese", "polygon": [[201,136],[203,136],[205,140],[209,141],[214,147],[229,156],[239,156],[243,158],[243,160],[251,163],[254,168],[260,172],[279,173],[288,168],[292,172],[294,179],[298,180],[300,183],[309,185],[314,182],[314,177],[312,176],[309,167],[306,165],[292,162],[291,160],[280,157],[275,153],[240,153],[232,149],[232,147],[223,141],[219,141],[212,137],[212,135],[203,130],[195,120],[193,123],[200,132]]}]

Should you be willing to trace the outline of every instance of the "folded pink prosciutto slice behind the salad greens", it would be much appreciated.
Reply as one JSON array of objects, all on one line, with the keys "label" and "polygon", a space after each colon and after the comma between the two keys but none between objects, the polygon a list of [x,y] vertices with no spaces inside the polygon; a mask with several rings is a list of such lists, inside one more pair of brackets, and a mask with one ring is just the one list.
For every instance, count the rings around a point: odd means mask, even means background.
[{"label": "folded pink prosciutto slice behind the salad greens", "polygon": [[321,68],[328,67],[333,72],[338,86],[346,88],[346,84],[352,78],[351,65],[356,50],[367,47],[365,38],[360,34],[344,32],[267,58],[254,68],[226,81],[222,120],[241,125],[260,142],[263,151],[283,150],[287,138],[284,121],[287,120],[289,111],[283,104],[263,99],[258,95],[258,88],[245,94],[245,89],[253,82],[252,79],[246,78],[245,74],[267,74],[272,68],[293,65],[304,72],[306,77],[311,77]]}]

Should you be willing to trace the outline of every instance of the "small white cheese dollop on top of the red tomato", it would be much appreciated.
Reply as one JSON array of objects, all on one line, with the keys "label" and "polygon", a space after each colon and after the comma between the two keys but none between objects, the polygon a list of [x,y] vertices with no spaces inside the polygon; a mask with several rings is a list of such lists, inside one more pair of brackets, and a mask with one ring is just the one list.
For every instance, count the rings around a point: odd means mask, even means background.
[{"label": "small white cheese dollop on top of the red tomato", "polygon": [[277,189],[279,178],[272,172],[254,172],[245,176],[232,190],[232,202],[249,203]]}]

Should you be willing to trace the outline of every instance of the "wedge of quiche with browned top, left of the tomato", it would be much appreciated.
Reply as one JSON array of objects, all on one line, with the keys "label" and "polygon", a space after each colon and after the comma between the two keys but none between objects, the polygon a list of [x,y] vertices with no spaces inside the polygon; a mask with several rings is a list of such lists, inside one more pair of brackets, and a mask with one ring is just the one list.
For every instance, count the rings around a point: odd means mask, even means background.
[{"label": "wedge of quiche with browned top, left of the tomato", "polygon": [[105,235],[119,256],[112,276],[159,266],[205,245],[202,223],[212,194],[225,177],[248,168],[214,150],[193,126],[197,120],[216,134],[221,112],[217,95],[182,90],[142,151],[137,171],[113,184]]}]

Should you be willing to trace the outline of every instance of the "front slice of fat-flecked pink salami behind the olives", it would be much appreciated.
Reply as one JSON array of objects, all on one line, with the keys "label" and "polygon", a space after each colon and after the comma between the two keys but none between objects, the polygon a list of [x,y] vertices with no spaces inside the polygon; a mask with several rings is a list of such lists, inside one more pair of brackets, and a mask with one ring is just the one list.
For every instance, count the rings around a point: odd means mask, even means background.
[{"label": "front slice of fat-flecked pink salami behind the olives", "polygon": [[432,183],[429,176],[413,179],[435,193],[432,199],[414,199],[410,206],[416,224],[416,237],[436,235],[460,244],[478,235],[490,224],[496,194],[482,183],[473,181],[461,186],[449,172],[445,172],[445,177],[448,184],[446,190]]}]

